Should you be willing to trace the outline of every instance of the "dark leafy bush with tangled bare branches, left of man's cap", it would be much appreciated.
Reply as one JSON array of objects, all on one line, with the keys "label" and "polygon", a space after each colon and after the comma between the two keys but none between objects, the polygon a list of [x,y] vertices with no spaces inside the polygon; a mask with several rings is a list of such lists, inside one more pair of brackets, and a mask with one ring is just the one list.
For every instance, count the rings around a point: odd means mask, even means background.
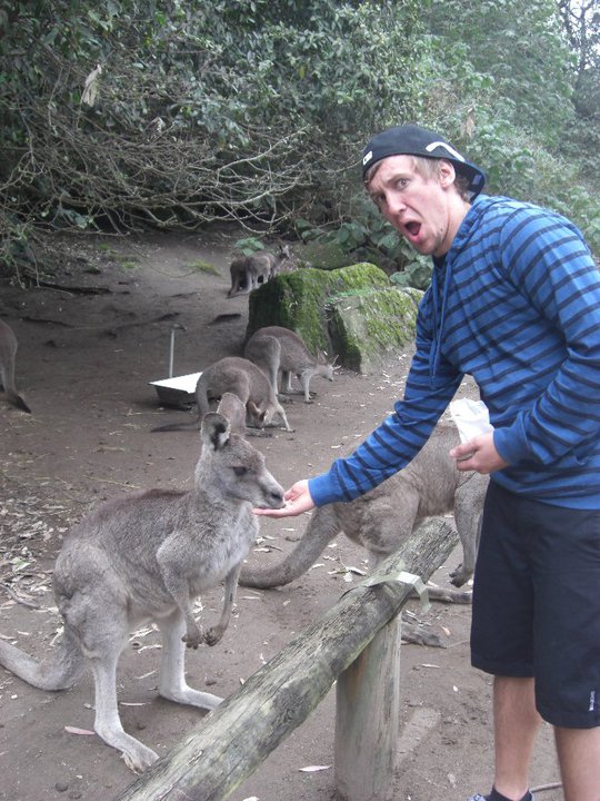
[{"label": "dark leafy bush with tangled bare branches, left of man's cap", "polygon": [[331,217],[380,109],[417,92],[396,80],[417,58],[417,0],[6,8],[4,260],[40,225],[256,231]]}]

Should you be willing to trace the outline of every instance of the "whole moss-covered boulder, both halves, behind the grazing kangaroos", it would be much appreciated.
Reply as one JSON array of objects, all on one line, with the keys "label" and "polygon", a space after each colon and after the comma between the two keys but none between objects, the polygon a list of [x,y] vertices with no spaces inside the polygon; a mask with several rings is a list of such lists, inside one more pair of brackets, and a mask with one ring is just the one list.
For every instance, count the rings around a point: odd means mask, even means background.
[{"label": "whole moss-covered boulder, both halves, behind the grazing kangaroos", "polygon": [[379,267],[304,268],[271,279],[249,298],[247,338],[263,326],[297,332],[312,353],[368,373],[414,336],[418,289],[397,288]]}]

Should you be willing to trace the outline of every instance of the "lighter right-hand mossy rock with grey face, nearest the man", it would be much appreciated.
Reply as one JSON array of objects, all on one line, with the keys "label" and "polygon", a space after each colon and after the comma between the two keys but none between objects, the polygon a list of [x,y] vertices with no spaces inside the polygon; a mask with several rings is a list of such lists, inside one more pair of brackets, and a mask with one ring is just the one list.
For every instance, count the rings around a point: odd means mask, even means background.
[{"label": "lighter right-hand mossy rock with grey face, nearest the man", "polygon": [[423,293],[390,287],[329,300],[329,333],[339,360],[358,373],[377,370],[414,338]]}]

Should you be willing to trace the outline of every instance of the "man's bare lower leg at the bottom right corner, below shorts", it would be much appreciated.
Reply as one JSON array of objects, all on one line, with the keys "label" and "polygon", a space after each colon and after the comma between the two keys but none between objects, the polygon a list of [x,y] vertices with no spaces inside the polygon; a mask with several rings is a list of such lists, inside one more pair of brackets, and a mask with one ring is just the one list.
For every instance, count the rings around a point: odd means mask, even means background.
[{"label": "man's bare lower leg at the bottom right corner, below shorts", "polygon": [[554,726],[564,801],[600,801],[600,728]]}]

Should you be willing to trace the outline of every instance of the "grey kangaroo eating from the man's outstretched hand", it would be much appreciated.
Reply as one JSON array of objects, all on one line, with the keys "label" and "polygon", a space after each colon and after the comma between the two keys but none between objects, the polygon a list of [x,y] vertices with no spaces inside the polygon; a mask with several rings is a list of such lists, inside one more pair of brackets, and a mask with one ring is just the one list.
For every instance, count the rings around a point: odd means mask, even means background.
[{"label": "grey kangaroo eating from the man's outstretched hand", "polygon": [[[221,698],[186,682],[186,646],[216,645],[221,640],[241,562],[258,534],[252,508],[283,505],[283,490],[262,454],[231,433],[220,412],[206,415],[201,441],[192,490],[150,490],[114,498],[71,531],[53,573],[64,623],[56,654],[37,662],[0,640],[0,664],[41,690],[72,686],[87,657],[96,686],[94,730],[122,752],[136,772],[148,768],[157,754],[127,734],[119,718],[116,671],[130,632],[147,621],[160,629],[160,695],[214,709]],[[223,578],[219,621],[202,630],[193,617],[192,601]]]}]

